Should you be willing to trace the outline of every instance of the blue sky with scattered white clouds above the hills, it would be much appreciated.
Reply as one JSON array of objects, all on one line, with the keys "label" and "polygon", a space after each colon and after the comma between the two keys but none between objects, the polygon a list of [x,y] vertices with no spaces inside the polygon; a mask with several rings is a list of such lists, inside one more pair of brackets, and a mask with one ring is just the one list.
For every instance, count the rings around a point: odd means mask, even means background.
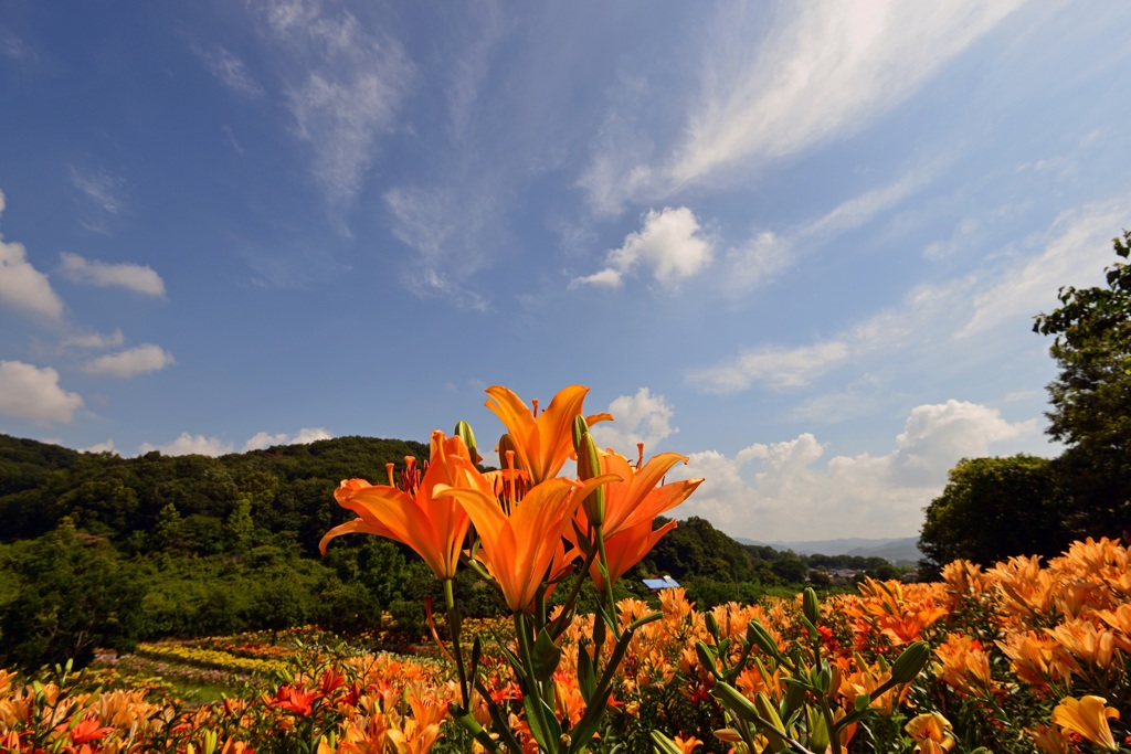
[{"label": "blue sky with scattered white clouds above the hills", "polygon": [[[0,0],[0,432],[601,435],[762,540],[1055,454],[1031,318],[1131,227],[1131,6]],[[375,476],[373,469],[357,469]]]}]

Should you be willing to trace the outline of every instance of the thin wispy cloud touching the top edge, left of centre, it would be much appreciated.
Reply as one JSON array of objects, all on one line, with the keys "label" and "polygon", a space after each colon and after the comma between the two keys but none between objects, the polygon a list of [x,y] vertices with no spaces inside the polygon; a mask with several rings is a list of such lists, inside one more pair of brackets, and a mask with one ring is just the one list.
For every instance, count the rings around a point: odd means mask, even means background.
[{"label": "thin wispy cloud touching the top edge, left of centre", "polygon": [[330,201],[352,199],[391,131],[415,69],[400,44],[368,33],[349,11],[268,0],[269,34],[297,70],[286,87],[295,131],[313,150],[313,174]]}]

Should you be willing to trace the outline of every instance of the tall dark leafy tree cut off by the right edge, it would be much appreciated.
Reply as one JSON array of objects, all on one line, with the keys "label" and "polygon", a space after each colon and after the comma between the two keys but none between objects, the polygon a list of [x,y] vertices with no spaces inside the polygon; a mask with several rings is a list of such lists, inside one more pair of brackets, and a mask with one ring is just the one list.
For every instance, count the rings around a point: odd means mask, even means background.
[{"label": "tall dark leafy tree cut off by the right edge", "polygon": [[1057,469],[1077,537],[1131,530],[1131,232],[1114,245],[1106,287],[1061,288],[1061,305],[1033,327],[1054,336],[1047,432],[1068,445]]}]

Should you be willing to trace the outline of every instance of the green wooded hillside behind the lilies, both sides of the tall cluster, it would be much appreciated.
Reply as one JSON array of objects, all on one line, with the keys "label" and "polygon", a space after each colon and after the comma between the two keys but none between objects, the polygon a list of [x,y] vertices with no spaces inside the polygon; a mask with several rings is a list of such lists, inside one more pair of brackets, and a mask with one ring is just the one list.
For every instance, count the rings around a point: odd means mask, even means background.
[{"label": "green wooded hillside behind the lilies, both sides of the tall cluster", "polygon": [[[339,482],[381,482],[385,465],[399,471],[406,456],[426,458],[428,447],[354,436],[219,458],[120,458],[0,435],[0,662],[83,664],[100,645],[305,623],[353,632],[382,612],[420,631],[438,587],[418,557],[360,536],[318,552],[327,530],[353,518],[334,501]],[[709,607],[792,592],[810,567],[896,574],[878,557],[740,545],[691,518],[622,588],[642,596],[640,578],[668,574]],[[500,610],[469,573],[456,586],[473,614]]]}]

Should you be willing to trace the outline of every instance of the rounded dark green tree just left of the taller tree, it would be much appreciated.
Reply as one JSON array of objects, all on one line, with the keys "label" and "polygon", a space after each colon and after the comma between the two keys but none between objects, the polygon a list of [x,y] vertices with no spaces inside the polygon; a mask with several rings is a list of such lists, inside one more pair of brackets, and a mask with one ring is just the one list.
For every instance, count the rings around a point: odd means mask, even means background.
[{"label": "rounded dark green tree just left of the taller tree", "polygon": [[1053,462],[1024,453],[962,459],[926,508],[924,571],[956,558],[992,565],[1011,555],[1056,555],[1069,541]]}]

